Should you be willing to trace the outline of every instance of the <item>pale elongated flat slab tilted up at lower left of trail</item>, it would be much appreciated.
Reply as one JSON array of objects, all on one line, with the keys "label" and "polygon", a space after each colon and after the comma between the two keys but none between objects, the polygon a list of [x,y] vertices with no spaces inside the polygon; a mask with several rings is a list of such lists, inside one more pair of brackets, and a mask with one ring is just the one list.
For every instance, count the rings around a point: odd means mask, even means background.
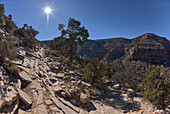
[{"label": "pale elongated flat slab tilted up at lower left of trail", "polygon": [[30,99],[30,97],[24,92],[22,91],[21,89],[18,89],[17,88],[17,91],[18,91],[18,95],[19,95],[19,98],[26,104],[26,105],[31,105],[32,104],[32,101]]}]

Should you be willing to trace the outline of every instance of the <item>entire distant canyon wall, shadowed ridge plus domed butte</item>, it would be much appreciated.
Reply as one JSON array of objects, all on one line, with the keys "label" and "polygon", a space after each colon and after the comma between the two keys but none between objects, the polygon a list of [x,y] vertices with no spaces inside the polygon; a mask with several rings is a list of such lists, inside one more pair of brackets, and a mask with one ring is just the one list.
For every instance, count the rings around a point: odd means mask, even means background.
[{"label": "entire distant canyon wall, shadowed ridge plus domed butte", "polygon": [[170,65],[170,42],[147,33],[134,39],[114,38],[88,41],[77,53],[85,58],[99,58],[112,62],[123,58],[151,64]]}]

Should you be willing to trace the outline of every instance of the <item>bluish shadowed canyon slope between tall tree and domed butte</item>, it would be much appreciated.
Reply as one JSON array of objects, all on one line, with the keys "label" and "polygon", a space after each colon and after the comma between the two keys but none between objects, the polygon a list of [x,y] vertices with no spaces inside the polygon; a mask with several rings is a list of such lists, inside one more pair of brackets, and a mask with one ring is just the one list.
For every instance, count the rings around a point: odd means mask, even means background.
[{"label": "bluish shadowed canyon slope between tall tree and domed butte", "polygon": [[108,62],[114,61],[125,54],[125,47],[131,40],[125,38],[91,40],[82,48],[78,48],[77,53],[85,58],[99,58]]}]

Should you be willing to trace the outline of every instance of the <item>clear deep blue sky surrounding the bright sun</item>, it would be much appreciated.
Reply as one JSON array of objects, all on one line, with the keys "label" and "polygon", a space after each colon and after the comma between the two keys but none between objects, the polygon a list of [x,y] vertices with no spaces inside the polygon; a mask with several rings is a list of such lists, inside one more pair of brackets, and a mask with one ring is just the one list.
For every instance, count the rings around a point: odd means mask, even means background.
[{"label": "clear deep blue sky surrounding the bright sun", "polygon": [[[33,26],[38,40],[60,35],[58,24],[69,17],[89,30],[90,39],[134,38],[155,33],[170,40],[170,0],[0,0],[17,26]],[[44,8],[53,12],[47,25]]]}]

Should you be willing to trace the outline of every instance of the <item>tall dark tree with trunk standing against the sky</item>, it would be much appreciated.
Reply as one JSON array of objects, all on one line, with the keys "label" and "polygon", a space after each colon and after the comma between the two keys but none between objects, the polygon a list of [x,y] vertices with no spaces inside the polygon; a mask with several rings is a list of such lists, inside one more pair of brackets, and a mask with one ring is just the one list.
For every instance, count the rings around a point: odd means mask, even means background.
[{"label": "tall dark tree with trunk standing against the sky", "polygon": [[87,38],[89,37],[88,30],[85,29],[84,26],[81,27],[81,23],[74,18],[69,18],[66,29],[63,24],[59,24],[58,29],[61,31],[61,38],[69,39],[69,51],[67,52],[72,61],[77,45],[82,46],[87,41]]}]

